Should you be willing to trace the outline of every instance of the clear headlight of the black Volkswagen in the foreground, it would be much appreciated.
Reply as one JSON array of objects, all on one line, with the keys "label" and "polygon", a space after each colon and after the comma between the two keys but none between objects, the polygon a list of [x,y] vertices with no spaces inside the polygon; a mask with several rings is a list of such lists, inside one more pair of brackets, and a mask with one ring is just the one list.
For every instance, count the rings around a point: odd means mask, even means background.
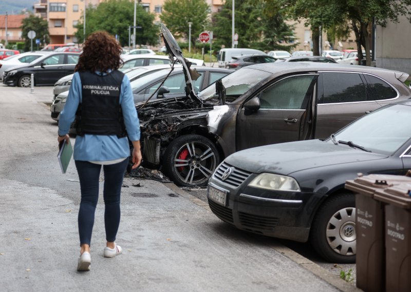
[{"label": "clear headlight of the black Volkswagen in the foreground", "polygon": [[301,192],[294,178],[273,173],[259,174],[248,186],[266,190]]}]

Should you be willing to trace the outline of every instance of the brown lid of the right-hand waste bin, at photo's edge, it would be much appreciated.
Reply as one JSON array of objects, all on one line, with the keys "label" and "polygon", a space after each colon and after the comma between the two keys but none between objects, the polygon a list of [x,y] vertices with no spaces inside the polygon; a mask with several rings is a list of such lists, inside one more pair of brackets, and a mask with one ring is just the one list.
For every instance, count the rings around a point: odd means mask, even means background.
[{"label": "brown lid of the right-hand waste bin, at photo's edge", "polygon": [[411,210],[411,183],[378,190],[374,198],[384,203]]}]

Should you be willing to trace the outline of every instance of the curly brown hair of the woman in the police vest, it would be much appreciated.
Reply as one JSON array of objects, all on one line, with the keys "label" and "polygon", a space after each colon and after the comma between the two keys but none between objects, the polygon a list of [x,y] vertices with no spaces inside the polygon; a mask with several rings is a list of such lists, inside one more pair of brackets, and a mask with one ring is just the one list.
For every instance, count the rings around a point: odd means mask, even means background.
[{"label": "curly brown hair of the woman in the police vest", "polygon": [[91,33],[84,43],[83,52],[74,71],[116,70],[123,63],[120,59],[121,53],[120,44],[109,33],[106,31]]}]

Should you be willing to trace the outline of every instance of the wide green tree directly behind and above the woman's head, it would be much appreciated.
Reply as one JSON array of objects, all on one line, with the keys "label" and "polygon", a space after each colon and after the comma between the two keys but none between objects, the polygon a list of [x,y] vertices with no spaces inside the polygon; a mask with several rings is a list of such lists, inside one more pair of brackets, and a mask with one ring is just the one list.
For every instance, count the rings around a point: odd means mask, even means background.
[{"label": "wide green tree directly behind and above the woman's head", "polygon": [[[142,28],[136,29],[136,44],[156,45],[159,40],[159,27],[154,24],[155,16],[137,5],[136,26]],[[108,0],[102,2],[94,8],[89,5],[86,9],[86,35],[105,30],[110,34],[118,35],[122,46],[128,45],[128,27],[134,24],[134,3],[128,0]],[[83,42],[83,16],[76,26],[77,39]],[[131,29],[133,33],[133,28]]]}]

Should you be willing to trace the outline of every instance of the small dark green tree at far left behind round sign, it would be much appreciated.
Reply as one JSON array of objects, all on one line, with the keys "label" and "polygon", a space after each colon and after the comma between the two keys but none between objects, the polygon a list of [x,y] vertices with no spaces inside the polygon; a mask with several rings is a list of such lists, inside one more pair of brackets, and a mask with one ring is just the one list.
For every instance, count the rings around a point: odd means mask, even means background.
[{"label": "small dark green tree at far left behind round sign", "polygon": [[[40,46],[45,46],[50,42],[48,32],[48,22],[41,17],[30,14],[23,20],[22,24],[22,38],[24,38],[24,50],[29,51],[31,49],[31,40],[27,34],[30,30],[35,31],[35,39],[40,39]],[[35,40],[33,40],[35,45]]]}]

